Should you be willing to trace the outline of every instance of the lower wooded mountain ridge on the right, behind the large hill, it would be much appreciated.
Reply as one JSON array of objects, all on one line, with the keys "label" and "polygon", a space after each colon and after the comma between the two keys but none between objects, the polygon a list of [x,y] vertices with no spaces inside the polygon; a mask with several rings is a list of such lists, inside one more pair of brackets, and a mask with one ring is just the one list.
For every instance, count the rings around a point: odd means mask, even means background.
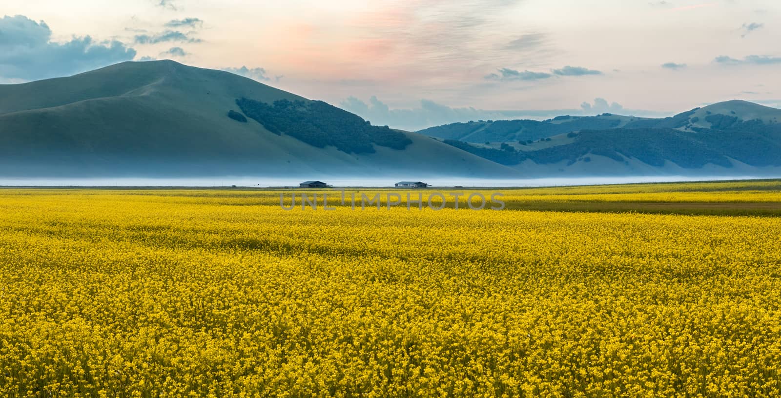
[{"label": "lower wooded mountain ridge on the right, behind the large hill", "polygon": [[735,174],[781,171],[779,121],[781,109],[726,101],[663,119],[559,116],[454,123],[420,133],[535,174]]}]

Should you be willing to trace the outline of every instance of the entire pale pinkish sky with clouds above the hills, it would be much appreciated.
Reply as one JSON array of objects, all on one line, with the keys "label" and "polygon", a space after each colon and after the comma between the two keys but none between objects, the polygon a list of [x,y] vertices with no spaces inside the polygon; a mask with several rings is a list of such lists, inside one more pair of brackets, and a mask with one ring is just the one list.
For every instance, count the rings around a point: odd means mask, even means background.
[{"label": "entire pale pinkish sky with clouds above the hills", "polygon": [[3,0],[0,84],[224,69],[373,124],[781,108],[778,0]]}]

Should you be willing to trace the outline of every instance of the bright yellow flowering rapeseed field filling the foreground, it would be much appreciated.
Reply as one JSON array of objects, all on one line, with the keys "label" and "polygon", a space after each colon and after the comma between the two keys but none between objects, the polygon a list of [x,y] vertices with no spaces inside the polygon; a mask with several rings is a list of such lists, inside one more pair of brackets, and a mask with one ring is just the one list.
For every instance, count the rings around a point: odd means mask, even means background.
[{"label": "bright yellow flowering rapeseed field filling the foreground", "polygon": [[781,395],[779,217],[279,194],[0,190],[0,396]]}]

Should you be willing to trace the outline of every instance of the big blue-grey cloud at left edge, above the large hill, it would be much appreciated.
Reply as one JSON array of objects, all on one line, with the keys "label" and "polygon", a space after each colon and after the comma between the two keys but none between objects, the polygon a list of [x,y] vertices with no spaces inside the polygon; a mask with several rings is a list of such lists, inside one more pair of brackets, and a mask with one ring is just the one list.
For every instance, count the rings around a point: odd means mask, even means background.
[{"label": "big blue-grey cloud at left edge, above the large hill", "polygon": [[52,41],[48,25],[27,16],[0,19],[0,77],[5,80],[38,80],[70,76],[98,69],[136,56],[119,41],[94,41],[90,36]]}]

